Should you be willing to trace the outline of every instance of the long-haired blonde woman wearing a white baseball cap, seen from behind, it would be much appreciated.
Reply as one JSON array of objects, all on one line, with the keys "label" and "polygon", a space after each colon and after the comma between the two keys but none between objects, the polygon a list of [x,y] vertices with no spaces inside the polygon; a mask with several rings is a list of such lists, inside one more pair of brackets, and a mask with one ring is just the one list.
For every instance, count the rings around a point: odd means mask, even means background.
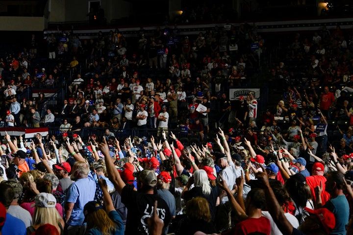
[{"label": "long-haired blonde woman wearing a white baseball cap, seen from behind", "polygon": [[55,226],[60,235],[63,235],[65,224],[55,208],[55,197],[50,193],[41,192],[35,197],[34,205],[35,209],[32,217],[33,225],[27,228],[27,235],[32,234],[43,224],[51,224]]}]

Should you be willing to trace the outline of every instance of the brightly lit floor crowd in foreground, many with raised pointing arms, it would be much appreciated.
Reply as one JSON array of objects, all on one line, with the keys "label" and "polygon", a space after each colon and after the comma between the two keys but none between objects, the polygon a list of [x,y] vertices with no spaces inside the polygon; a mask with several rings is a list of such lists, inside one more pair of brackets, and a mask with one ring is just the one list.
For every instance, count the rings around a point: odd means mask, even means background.
[{"label": "brightly lit floor crowd in foreground, many with raised pointing arms", "polygon": [[199,146],[164,130],[120,141],[6,133],[1,232],[350,234],[352,154],[329,146],[318,157],[299,132],[292,148],[268,140],[264,149],[251,135],[232,144],[221,128]]}]

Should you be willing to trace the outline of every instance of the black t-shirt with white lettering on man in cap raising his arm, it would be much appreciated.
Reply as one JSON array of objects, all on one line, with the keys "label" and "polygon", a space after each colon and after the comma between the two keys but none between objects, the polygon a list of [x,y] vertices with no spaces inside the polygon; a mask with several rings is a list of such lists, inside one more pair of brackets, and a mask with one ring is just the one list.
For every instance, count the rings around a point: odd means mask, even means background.
[{"label": "black t-shirt with white lettering on man in cap raising his arm", "polygon": [[157,194],[144,194],[125,186],[121,198],[122,203],[124,203],[127,208],[125,234],[149,234],[147,219],[150,218],[153,213],[155,200],[158,201],[158,217],[163,220],[164,226],[166,227],[171,220],[167,203],[158,197]]}]

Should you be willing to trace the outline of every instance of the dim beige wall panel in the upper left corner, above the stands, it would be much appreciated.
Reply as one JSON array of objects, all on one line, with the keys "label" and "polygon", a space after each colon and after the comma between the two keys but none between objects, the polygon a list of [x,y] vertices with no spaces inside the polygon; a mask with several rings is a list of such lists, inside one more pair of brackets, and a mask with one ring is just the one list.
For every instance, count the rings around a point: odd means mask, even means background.
[{"label": "dim beige wall panel in the upper left corner, above the stands", "polygon": [[44,17],[0,17],[0,31],[43,31]]}]

